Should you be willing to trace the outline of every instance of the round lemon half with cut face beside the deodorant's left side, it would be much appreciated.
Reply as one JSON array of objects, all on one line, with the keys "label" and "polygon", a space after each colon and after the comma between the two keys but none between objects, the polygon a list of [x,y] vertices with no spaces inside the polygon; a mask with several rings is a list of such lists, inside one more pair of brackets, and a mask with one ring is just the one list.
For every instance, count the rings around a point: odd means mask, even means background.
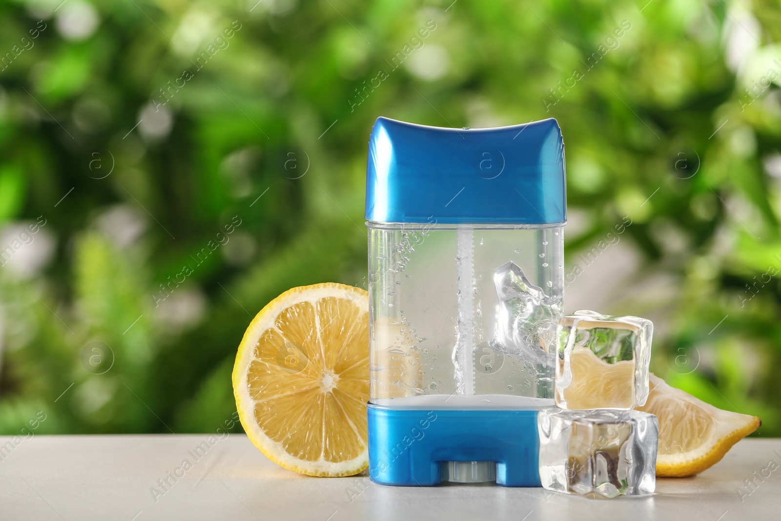
[{"label": "round lemon half with cut face beside the deodorant's left side", "polygon": [[269,302],[239,345],[236,408],[271,461],[309,476],[369,465],[369,295],[343,284],[294,287]]}]

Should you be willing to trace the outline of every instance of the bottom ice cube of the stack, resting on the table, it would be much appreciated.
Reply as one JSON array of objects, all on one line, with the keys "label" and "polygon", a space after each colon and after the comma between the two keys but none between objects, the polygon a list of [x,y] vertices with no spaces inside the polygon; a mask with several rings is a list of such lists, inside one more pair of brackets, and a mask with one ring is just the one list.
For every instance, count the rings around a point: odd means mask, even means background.
[{"label": "bottom ice cube of the stack, resting on the table", "polygon": [[537,416],[540,480],[551,491],[590,498],[652,494],[659,424],[640,411],[569,411]]}]

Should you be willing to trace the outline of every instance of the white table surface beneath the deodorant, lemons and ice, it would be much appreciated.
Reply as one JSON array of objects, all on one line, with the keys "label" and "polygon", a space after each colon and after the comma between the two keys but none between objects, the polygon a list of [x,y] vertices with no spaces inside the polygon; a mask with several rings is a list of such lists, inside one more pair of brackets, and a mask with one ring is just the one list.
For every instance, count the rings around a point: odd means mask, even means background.
[{"label": "white table surface beneath the deodorant, lemons and ice", "polygon": [[[2,521],[781,519],[781,439],[741,441],[700,476],[660,479],[651,497],[612,500],[542,488],[383,487],[367,476],[301,476],[270,462],[243,434],[212,438],[199,459],[191,452],[209,441],[205,434],[39,435],[2,451],[8,441],[0,437]],[[185,459],[192,468],[153,497],[152,487]]]}]

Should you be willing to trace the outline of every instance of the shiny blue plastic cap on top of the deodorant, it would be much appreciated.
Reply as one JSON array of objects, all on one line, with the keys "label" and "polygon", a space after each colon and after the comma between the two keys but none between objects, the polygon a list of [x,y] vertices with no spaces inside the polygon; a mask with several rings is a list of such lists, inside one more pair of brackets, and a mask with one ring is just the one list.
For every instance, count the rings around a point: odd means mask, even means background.
[{"label": "shiny blue plastic cap on top of the deodorant", "polygon": [[369,137],[366,219],[564,223],[562,131],[552,118],[478,129],[377,118]]}]

